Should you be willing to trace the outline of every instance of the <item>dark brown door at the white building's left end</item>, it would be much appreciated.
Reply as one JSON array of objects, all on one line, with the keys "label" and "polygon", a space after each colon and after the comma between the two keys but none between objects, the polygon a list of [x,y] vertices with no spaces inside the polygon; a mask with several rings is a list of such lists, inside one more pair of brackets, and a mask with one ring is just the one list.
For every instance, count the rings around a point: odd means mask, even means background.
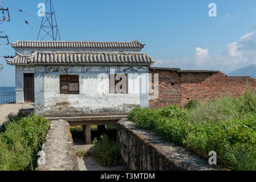
[{"label": "dark brown door at the white building's left end", "polygon": [[24,102],[34,101],[34,73],[24,73]]}]

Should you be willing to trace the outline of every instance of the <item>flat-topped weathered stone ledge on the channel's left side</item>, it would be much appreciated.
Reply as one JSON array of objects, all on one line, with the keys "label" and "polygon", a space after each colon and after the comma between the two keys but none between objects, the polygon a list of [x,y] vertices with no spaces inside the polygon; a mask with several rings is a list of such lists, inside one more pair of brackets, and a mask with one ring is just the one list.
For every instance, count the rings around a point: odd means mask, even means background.
[{"label": "flat-topped weathered stone ledge on the channel's left side", "polygon": [[36,171],[78,171],[78,161],[67,121],[51,121]]}]

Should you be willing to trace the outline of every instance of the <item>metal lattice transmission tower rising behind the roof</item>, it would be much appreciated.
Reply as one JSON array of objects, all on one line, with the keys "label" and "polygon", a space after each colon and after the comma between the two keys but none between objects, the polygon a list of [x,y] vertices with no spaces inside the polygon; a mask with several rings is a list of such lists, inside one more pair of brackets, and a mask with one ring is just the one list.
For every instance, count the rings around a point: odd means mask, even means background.
[{"label": "metal lattice transmission tower rising behind the roof", "polygon": [[[48,6],[47,6],[48,5]],[[47,10],[48,7],[48,10]],[[52,0],[46,1],[46,12],[45,16],[43,16],[42,23],[40,26],[39,34],[36,40],[39,39],[40,33],[43,32],[44,36],[42,39],[46,38],[46,36],[50,36],[53,41],[60,40],[59,36],[59,28],[56,20],[56,16],[54,13],[54,5],[52,4]],[[42,33],[41,33],[42,34]]]}]

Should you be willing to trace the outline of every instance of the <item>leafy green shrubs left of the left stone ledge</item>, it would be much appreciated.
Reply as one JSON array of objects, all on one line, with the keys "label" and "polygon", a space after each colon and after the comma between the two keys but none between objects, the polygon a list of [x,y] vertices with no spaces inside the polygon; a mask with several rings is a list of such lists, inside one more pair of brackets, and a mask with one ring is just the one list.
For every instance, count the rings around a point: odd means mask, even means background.
[{"label": "leafy green shrubs left of the left stone ledge", "polygon": [[33,170],[50,123],[41,115],[13,116],[0,133],[0,170]]}]

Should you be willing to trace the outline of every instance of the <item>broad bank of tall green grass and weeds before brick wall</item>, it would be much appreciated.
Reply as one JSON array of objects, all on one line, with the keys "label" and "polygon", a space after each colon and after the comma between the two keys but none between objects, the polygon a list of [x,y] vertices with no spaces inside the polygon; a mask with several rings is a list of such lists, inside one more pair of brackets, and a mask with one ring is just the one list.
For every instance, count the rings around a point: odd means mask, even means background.
[{"label": "broad bank of tall green grass and weeds before brick wall", "polygon": [[217,162],[233,170],[256,170],[256,94],[239,98],[220,97],[189,108],[137,107],[128,114],[141,129],[147,129],[208,158],[217,152]]}]

